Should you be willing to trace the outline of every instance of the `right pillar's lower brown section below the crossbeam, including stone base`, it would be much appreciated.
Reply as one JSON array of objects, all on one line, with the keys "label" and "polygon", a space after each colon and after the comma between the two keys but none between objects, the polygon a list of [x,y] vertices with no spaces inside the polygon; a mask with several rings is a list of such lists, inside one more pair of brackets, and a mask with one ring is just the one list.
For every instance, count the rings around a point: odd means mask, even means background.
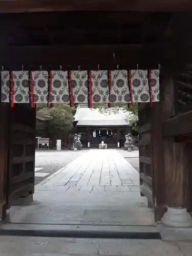
[{"label": "right pillar's lower brown section below the crossbeam, including stone base", "polygon": [[164,167],[167,212],[161,221],[169,226],[187,227],[192,218],[187,207],[187,152],[185,143],[164,139]]}]

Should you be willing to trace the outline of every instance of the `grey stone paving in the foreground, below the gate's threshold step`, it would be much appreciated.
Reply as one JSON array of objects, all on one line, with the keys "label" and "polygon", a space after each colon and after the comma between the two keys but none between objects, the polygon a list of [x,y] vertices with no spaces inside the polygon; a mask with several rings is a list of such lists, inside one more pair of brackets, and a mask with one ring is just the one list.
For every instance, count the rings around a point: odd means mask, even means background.
[{"label": "grey stone paving in the foreground, below the gate's threshold step", "polygon": [[191,243],[160,240],[0,237],[0,255],[189,256]]}]

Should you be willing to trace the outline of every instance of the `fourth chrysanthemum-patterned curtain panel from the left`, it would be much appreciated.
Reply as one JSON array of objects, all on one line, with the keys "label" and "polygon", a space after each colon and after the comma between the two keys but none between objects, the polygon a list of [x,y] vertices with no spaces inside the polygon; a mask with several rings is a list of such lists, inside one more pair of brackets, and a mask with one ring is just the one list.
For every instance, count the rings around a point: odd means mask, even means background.
[{"label": "fourth chrysanthemum-patterned curtain panel from the left", "polygon": [[50,103],[69,103],[69,83],[67,71],[52,71]]}]

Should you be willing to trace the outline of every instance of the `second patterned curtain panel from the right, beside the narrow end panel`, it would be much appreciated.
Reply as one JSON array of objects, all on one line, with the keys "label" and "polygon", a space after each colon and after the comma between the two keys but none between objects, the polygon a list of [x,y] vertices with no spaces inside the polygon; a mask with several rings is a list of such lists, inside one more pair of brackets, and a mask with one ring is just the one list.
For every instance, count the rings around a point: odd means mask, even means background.
[{"label": "second patterned curtain panel from the right, beside the narrow end panel", "polygon": [[147,70],[131,71],[133,102],[150,102]]}]

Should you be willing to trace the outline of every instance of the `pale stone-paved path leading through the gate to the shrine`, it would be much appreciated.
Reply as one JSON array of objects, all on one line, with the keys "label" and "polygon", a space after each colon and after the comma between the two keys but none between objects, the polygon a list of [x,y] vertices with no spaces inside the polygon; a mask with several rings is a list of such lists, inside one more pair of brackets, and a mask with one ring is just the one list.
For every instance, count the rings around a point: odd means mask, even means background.
[{"label": "pale stone-paved path leading through the gate to the shrine", "polygon": [[11,208],[13,223],[155,225],[138,172],[117,150],[90,150],[35,188],[30,205]]}]

